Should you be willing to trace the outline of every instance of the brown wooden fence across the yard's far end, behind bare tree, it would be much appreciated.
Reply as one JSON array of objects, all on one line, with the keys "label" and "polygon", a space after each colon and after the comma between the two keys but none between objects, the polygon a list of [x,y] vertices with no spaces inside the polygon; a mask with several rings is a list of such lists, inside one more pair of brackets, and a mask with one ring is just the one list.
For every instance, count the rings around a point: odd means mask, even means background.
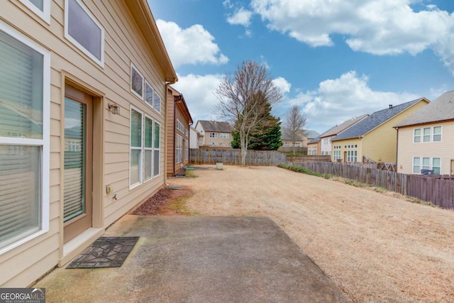
[{"label": "brown wooden fence across the yard's far end, behind bare tree", "polygon": [[[193,164],[222,162],[226,165],[240,165],[241,150],[192,148],[189,150],[189,162]],[[269,166],[279,163],[287,163],[287,156],[275,150],[248,150],[246,155],[246,165]]]}]

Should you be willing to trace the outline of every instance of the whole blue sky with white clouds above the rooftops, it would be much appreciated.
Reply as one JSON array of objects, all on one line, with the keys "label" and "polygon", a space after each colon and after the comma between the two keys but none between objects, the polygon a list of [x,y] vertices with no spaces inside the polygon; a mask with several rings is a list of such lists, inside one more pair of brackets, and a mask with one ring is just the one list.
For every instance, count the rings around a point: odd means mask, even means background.
[{"label": "whole blue sky with white clouds above the rooftops", "polygon": [[362,114],[454,90],[454,1],[148,0],[194,123],[245,60],[265,64],[323,133]]}]

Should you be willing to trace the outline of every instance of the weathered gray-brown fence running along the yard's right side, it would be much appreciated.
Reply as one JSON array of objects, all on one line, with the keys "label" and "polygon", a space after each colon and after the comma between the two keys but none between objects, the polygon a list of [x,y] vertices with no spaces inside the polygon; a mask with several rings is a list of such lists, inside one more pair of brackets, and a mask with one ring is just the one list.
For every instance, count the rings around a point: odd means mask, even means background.
[{"label": "weathered gray-brown fence running along the yard's right side", "polygon": [[360,167],[336,162],[295,163],[319,174],[330,174],[355,180],[391,192],[432,202],[444,209],[454,209],[454,176],[405,175],[387,170]]}]

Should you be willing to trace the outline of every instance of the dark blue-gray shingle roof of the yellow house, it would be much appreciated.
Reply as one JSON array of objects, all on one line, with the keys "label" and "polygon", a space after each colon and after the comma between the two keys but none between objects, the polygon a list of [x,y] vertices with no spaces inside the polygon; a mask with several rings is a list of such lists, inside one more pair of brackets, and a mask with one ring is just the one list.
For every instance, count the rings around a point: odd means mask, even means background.
[{"label": "dark blue-gray shingle roof of the yellow house", "polygon": [[372,129],[380,126],[382,123],[392,119],[397,114],[400,114],[402,111],[408,109],[410,106],[418,103],[421,100],[427,100],[426,98],[419,98],[413,101],[409,101],[397,106],[392,106],[389,109],[382,109],[381,111],[375,111],[375,113],[367,116],[365,119],[362,119],[355,125],[346,129],[333,138],[332,141],[338,141],[348,138],[358,138],[364,136],[366,133],[372,131]]}]

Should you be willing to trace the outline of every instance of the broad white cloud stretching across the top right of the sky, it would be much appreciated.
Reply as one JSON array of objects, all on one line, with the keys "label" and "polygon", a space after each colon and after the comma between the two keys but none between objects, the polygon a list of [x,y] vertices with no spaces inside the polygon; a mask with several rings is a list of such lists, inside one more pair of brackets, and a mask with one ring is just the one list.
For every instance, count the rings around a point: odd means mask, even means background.
[{"label": "broad white cloud stretching across the top right of the sky", "polygon": [[[414,2],[414,1],[413,1]],[[411,9],[410,0],[252,0],[267,26],[303,43],[331,46],[344,35],[352,50],[374,55],[433,49],[454,72],[454,14],[433,4]]]}]

